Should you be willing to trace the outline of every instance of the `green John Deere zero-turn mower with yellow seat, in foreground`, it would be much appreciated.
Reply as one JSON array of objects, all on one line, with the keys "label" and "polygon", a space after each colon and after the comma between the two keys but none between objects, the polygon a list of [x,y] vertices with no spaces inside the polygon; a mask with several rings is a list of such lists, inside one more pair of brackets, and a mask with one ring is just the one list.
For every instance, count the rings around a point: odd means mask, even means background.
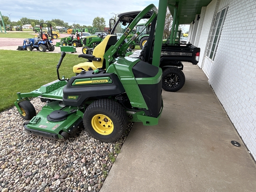
[{"label": "green John Deere zero-turn mower with yellow seat, in foreground", "polygon": [[[149,10],[154,12],[146,25],[150,24],[158,12],[153,4],[140,12],[120,40],[115,35],[106,36],[97,46],[101,48],[93,52],[97,56],[79,55],[92,61],[88,65],[98,63],[95,70],[81,68],[79,75],[61,79],[58,70],[65,56],[62,52],[56,66],[58,80],[29,93],[18,92],[15,105],[20,116],[31,119],[24,122],[25,131],[64,140],[73,136],[83,123],[94,138],[113,142],[124,134],[128,121],[158,124],[163,109],[162,70],[124,56],[129,46],[124,39]],[[28,99],[31,97],[46,102],[37,115]]]}]

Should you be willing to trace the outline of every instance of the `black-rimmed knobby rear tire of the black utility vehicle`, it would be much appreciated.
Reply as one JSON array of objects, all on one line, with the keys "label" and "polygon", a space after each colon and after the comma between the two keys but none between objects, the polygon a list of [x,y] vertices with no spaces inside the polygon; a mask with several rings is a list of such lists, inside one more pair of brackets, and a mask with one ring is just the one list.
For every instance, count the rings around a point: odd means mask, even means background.
[{"label": "black-rimmed knobby rear tire of the black utility vehicle", "polygon": [[179,91],[185,84],[185,75],[178,68],[167,68],[162,75],[162,88],[168,92]]}]

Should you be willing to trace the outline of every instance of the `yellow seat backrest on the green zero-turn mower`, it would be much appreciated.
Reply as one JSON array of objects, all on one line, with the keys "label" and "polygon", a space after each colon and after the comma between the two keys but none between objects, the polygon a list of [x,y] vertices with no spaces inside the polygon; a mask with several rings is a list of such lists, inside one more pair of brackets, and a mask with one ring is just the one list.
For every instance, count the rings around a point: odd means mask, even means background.
[{"label": "yellow seat backrest on the green zero-turn mower", "polygon": [[92,61],[96,68],[106,68],[106,60],[104,59],[105,52],[114,44],[116,44],[116,35],[107,35],[101,42],[94,48],[92,55],[100,58],[100,61]]}]

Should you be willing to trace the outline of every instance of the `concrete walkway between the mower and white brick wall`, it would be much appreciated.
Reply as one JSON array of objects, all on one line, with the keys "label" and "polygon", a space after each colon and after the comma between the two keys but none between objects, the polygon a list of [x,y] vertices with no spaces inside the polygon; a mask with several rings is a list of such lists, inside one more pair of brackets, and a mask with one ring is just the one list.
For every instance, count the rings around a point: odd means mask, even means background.
[{"label": "concrete walkway between the mower and white brick wall", "polygon": [[134,124],[100,192],[256,191],[256,164],[204,72],[184,73],[180,91],[163,91],[159,124]]}]

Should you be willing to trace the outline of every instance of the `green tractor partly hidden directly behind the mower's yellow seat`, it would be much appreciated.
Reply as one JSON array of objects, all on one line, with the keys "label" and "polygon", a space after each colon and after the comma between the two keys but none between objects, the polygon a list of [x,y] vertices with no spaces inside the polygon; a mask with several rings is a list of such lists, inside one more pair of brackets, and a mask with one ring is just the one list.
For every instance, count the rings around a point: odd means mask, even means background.
[{"label": "green tractor partly hidden directly behind the mower's yellow seat", "polygon": [[91,48],[95,48],[100,42],[107,36],[104,32],[96,32],[96,34],[91,36],[86,36],[83,39],[83,48],[82,52],[84,54],[91,54],[90,50]]}]

